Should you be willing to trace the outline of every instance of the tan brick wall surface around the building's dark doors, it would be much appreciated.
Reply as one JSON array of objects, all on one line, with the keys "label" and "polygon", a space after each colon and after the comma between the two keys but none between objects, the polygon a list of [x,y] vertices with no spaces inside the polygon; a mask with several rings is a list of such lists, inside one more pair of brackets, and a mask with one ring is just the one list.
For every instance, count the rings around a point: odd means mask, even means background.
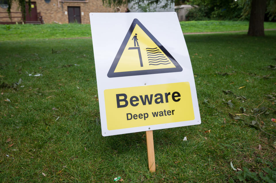
[{"label": "tan brick wall surface around the building's dark doors", "polygon": [[[86,0],[87,1],[87,0]],[[81,9],[81,23],[90,23],[89,13],[91,12],[115,12],[115,8],[106,7],[103,5],[102,0],[88,0],[88,2],[79,1],[79,2],[64,2],[62,0],[51,0],[49,3],[46,3],[44,0],[35,0],[37,4],[37,12],[41,12],[41,16],[45,23],[53,23],[54,21],[60,23],[69,23],[68,21],[68,6],[79,6]],[[11,7],[11,11],[20,12],[17,9],[17,4],[14,2]],[[0,12],[6,12],[7,9],[0,7]],[[121,12],[124,12],[124,7],[121,7]],[[67,15],[66,15],[67,13]],[[83,15],[82,15],[83,13]],[[4,13],[3,13],[4,14]],[[0,17],[3,15],[0,13]],[[5,13],[7,15],[7,13]],[[15,14],[12,14],[14,16]],[[21,14],[17,14],[20,15]],[[3,22],[4,19],[0,18],[0,22]],[[10,21],[5,19],[5,21]],[[12,19],[12,21],[20,21],[19,19]]]}]

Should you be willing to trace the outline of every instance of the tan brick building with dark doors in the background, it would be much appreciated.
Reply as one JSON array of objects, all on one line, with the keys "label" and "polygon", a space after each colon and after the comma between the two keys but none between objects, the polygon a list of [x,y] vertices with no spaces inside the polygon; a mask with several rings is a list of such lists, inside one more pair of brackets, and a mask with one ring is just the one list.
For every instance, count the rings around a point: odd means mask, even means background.
[{"label": "tan brick building with dark doors in the background", "polygon": [[[91,12],[115,12],[114,8],[103,5],[102,0],[33,0],[31,1],[31,15],[26,14],[25,23],[90,23]],[[124,12],[124,7],[120,9]],[[26,5],[28,12],[28,5]],[[42,19],[41,19],[42,17]],[[6,0],[0,0],[0,23],[22,22],[22,13],[17,2],[11,6],[11,19],[7,13]]]}]

